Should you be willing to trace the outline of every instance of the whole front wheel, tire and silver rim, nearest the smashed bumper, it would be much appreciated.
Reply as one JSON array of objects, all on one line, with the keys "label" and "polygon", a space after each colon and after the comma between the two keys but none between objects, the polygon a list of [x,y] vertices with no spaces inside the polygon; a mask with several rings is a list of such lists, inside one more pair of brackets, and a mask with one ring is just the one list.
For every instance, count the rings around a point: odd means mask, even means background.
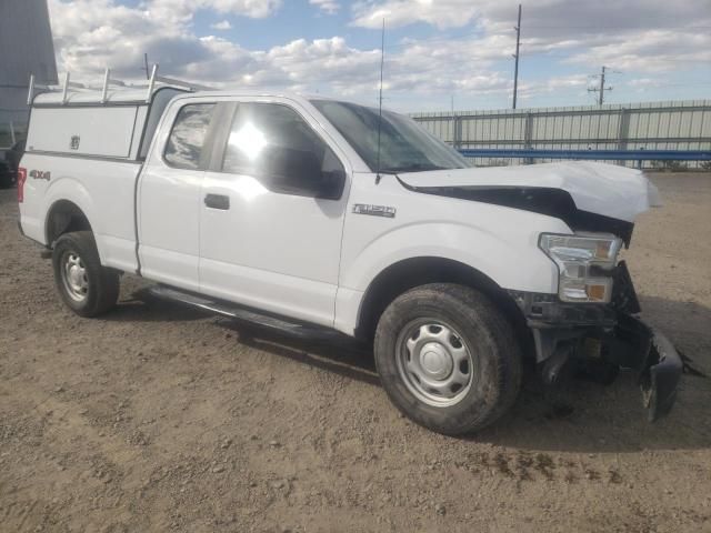
[{"label": "whole front wheel, tire and silver rim, nearest the smashed bumper", "polygon": [[380,318],[375,365],[392,402],[439,433],[472,433],[499,419],[521,384],[513,329],[480,292],[433,283],[397,298]]}]

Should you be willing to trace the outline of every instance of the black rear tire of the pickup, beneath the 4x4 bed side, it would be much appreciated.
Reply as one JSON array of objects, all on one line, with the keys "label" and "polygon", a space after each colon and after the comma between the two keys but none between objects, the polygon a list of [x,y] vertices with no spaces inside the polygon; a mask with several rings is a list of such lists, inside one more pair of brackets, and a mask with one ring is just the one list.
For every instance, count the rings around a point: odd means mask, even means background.
[{"label": "black rear tire of the pickup, beneath the 4x4 bed side", "polygon": [[[69,258],[80,262],[83,271],[83,298],[72,295],[69,274],[63,274]],[[119,299],[119,272],[101,266],[93,234],[90,231],[64,233],[52,252],[54,283],[63,302],[80,316],[98,316],[116,305]]]}]

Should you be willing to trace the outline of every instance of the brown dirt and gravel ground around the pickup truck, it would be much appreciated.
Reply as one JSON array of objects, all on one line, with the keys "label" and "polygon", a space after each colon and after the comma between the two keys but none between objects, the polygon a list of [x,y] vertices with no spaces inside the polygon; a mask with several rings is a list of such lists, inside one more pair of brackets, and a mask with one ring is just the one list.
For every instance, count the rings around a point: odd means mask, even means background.
[{"label": "brown dirt and gravel ground around the pickup truck", "polygon": [[[711,373],[711,175],[657,174],[625,252],[644,308]],[[711,380],[645,421],[612,386],[534,374],[498,425],[401,418],[372,354],[134,298],[70,313],[0,191],[0,531],[711,531]]]}]

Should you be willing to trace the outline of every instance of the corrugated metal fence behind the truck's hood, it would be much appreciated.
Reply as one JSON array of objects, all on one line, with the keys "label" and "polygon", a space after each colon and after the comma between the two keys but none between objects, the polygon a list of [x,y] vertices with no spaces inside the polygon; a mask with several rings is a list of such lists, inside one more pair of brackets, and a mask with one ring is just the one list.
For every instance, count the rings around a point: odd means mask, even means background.
[{"label": "corrugated metal fence behind the truck's hood", "polygon": [[[412,118],[458,150],[485,150],[479,153],[485,153],[488,157],[473,158],[474,164],[479,165],[552,160],[542,157],[534,160],[511,157],[524,153],[519,150],[624,150],[639,152],[643,158],[620,161],[620,164],[629,167],[698,168],[707,163],[654,160],[654,151],[711,151],[711,100],[472,111],[453,114],[414,113]],[[649,157],[644,151],[650,152]]]}]

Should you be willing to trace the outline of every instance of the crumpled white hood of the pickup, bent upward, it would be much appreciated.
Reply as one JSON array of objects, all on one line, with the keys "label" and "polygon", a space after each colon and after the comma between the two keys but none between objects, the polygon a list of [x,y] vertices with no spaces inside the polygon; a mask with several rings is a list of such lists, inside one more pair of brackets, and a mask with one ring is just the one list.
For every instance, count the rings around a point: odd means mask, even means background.
[{"label": "crumpled white hood of the pickup, bent upward", "polygon": [[432,170],[398,174],[412,188],[548,188],[570,194],[581,211],[634,222],[661,205],[659,191],[639,170],[589,161]]}]

